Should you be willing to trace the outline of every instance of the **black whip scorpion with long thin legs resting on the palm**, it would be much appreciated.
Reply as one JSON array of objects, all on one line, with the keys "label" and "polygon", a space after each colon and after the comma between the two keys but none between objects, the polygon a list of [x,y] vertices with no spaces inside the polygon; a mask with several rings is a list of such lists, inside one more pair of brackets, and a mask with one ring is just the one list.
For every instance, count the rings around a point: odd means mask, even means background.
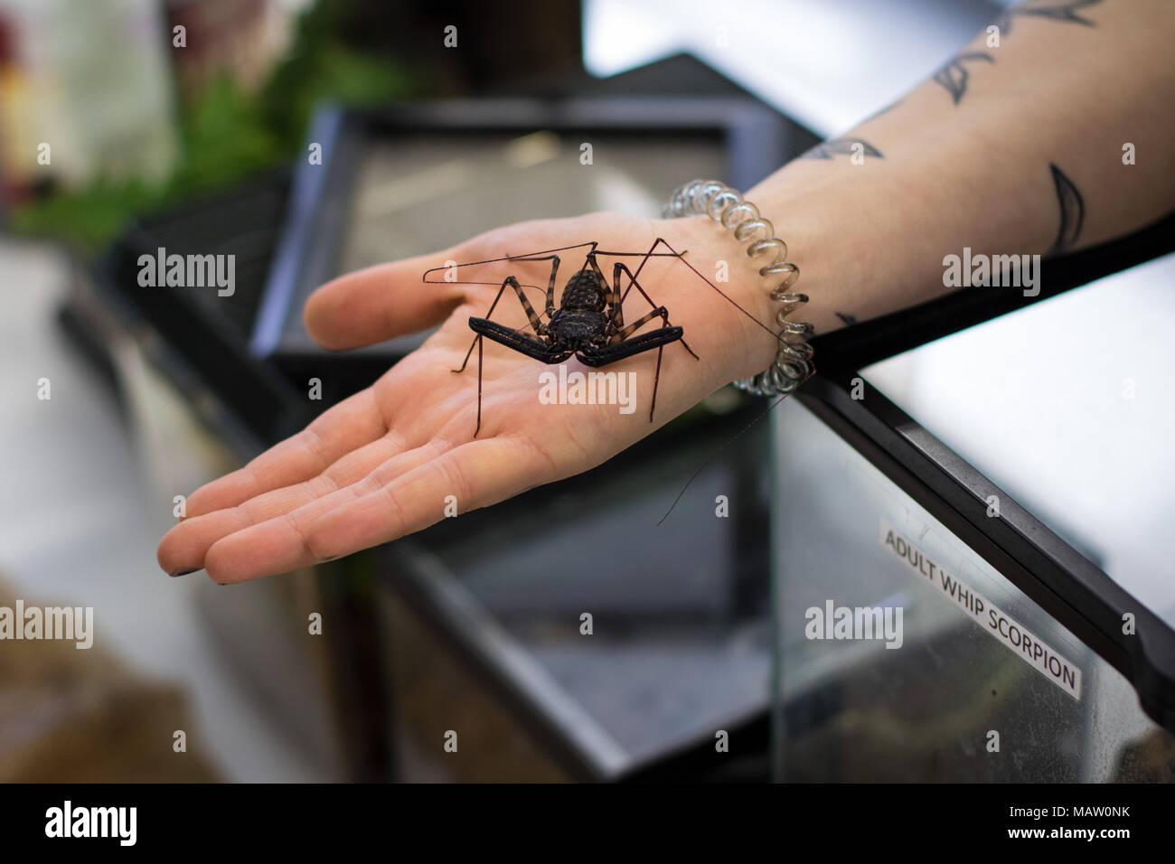
[{"label": "black whip scorpion with long thin legs resting on the palm", "polygon": [[[670,249],[670,252],[657,253],[656,249],[660,245],[664,245],[665,248]],[[582,249],[584,247],[590,247],[589,252],[584,255],[584,263],[568,280],[559,297],[559,303],[556,306],[555,287],[558,280],[560,264],[560,259],[556,253],[568,252],[570,249]],[[469,328],[476,334],[474,336],[474,343],[470,344],[469,351],[465,353],[465,360],[461,364],[461,368],[454,369],[452,371],[464,371],[465,367],[469,366],[469,359],[472,356],[474,348],[477,348],[477,428],[474,431],[474,437],[477,437],[477,433],[481,431],[482,428],[483,339],[489,339],[511,348],[519,354],[542,361],[543,363],[562,363],[569,357],[575,356],[585,366],[590,367],[609,366],[610,363],[624,360],[625,357],[631,357],[636,354],[642,354],[656,348],[657,369],[653,376],[652,402],[649,408],[650,422],[652,422],[653,411],[657,407],[657,386],[660,381],[662,353],[664,351],[665,346],[679,341],[682,342],[682,346],[690,351],[694,359],[697,359],[697,355],[692,349],[690,349],[689,344],[686,344],[685,340],[682,337],[684,330],[680,327],[673,327],[670,324],[669,310],[664,306],[654,303],[637,281],[637,276],[640,274],[640,270],[644,268],[645,263],[647,263],[650,257],[656,255],[667,255],[680,259],[680,254],[673,252],[669,243],[660,237],[658,237],[649,252],[645,253],[603,252],[597,247],[598,242],[592,241],[589,243],[579,243],[578,246],[562,247],[559,249],[546,249],[530,255],[511,255],[501,259],[491,259],[489,261],[475,261],[469,264],[457,264],[458,267],[463,267],[489,264],[498,261],[551,262],[551,275],[546,284],[546,302],[542,313],[535,310],[535,307],[526,297],[525,292],[523,292],[523,287],[518,279],[513,275],[509,275],[505,280],[503,280],[501,287],[498,288],[497,296],[490,304],[489,312],[485,313],[485,317],[469,319]],[[597,260],[600,256],[639,256],[644,260],[640,266],[637,267],[634,273],[630,270],[626,264],[617,261],[612,267],[612,282],[609,283]],[[424,281],[436,281],[429,280],[428,275],[429,273],[435,273],[441,269],[444,268],[437,267],[425,272]],[[626,288],[622,283],[625,277],[627,279]],[[497,283],[494,282],[491,284]],[[490,320],[490,316],[494,314],[494,309],[497,307],[498,301],[502,299],[503,294],[505,294],[508,288],[513,290],[515,295],[518,297],[518,302],[523,307],[523,310],[526,313],[529,328],[515,329]],[[649,313],[636,321],[625,323],[624,299],[632,288],[636,288],[640,296],[643,296],[652,308]],[[656,319],[660,319],[660,327],[640,334],[636,333],[640,327]]]}]

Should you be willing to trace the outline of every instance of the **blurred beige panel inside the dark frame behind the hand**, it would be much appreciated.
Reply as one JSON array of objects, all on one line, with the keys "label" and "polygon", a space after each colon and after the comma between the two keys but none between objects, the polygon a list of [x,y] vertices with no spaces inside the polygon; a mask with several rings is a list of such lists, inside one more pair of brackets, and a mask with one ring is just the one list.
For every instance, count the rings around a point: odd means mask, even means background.
[{"label": "blurred beige panel inside the dark frame behind the hand", "polygon": [[[590,168],[582,160],[592,147]],[[692,176],[724,176],[718,136],[553,132],[529,135],[397,135],[363,155],[341,270],[422,255],[529,219],[597,210],[659,216]],[[589,237],[590,239],[590,237]],[[517,254],[517,253],[516,253]]]}]

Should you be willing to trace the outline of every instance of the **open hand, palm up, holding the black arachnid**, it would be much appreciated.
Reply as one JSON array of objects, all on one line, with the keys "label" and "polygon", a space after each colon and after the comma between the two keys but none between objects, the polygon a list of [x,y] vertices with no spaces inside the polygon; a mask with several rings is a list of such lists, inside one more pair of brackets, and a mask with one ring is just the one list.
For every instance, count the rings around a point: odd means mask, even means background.
[{"label": "open hand, palm up, holding the black arachnid", "polygon": [[[687,250],[686,259],[711,274],[716,259],[737,249],[704,217],[699,223],[592,214],[510,226],[436,255],[381,264],[323,286],[307,303],[306,322],[330,349],[443,323],[371,387],[193,493],[187,517],[160,543],[160,565],[173,575],[203,568],[217,582],[242,582],[384,543],[439,521],[446,505],[450,513],[465,513],[592,468],[733,377],[766,366],[773,341],[761,327],[683,261],[649,259],[640,284],[669,308],[670,322],[684,328],[698,355],[678,343],[665,347],[652,422],[656,349],[607,367],[637,374],[636,410],[623,414],[616,404],[544,404],[539,374],[550,367],[485,340],[482,424],[475,437],[477,351],[463,373],[452,370],[472,342],[470,316],[485,315],[502,277],[497,284],[422,284],[422,274],[448,261],[528,255],[585,241],[599,241],[602,249],[644,252],[658,236]],[[568,254],[556,304],[568,277],[583,264],[580,253]],[[600,261],[610,280],[612,261]],[[545,289],[549,262],[503,266],[524,284]],[[754,289],[750,273],[732,274],[734,281],[723,292],[759,321],[770,320],[764,317],[766,296]],[[539,313],[542,294],[528,289]],[[630,322],[650,309],[636,293],[624,303]],[[509,289],[494,320],[524,331],[528,327]],[[640,331],[659,326],[654,320]],[[575,359],[566,362],[584,368]]]}]

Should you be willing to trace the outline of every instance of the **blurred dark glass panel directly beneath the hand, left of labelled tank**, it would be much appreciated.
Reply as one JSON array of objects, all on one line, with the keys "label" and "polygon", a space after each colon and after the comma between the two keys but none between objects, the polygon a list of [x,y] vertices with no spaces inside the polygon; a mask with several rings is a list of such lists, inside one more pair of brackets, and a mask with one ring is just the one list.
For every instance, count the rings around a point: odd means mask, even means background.
[{"label": "blurred dark glass panel directly beneath the hand, left of labelled tank", "polygon": [[[768,428],[747,430],[743,456],[706,464],[732,434],[698,430],[672,455],[622,456],[590,482],[414,538],[428,549],[422,577],[468,616],[456,624],[492,643],[495,667],[605,776],[711,746],[768,708],[768,495],[756,456]],[[737,505],[718,518],[723,496]]]}]

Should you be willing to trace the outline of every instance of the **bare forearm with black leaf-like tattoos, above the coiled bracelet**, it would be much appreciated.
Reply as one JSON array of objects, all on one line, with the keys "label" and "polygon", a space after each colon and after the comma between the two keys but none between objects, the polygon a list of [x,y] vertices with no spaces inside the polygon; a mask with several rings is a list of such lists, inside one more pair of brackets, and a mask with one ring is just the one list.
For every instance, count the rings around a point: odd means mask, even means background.
[{"label": "bare forearm with black leaf-like tattoos, above the coiled bracelet", "polygon": [[1175,206],[1175,4],[1073,12],[1080,21],[1013,13],[999,47],[981,34],[968,56],[748,190],[811,299],[792,317],[826,333],[954,290],[944,257],[965,247],[1048,255]]}]

